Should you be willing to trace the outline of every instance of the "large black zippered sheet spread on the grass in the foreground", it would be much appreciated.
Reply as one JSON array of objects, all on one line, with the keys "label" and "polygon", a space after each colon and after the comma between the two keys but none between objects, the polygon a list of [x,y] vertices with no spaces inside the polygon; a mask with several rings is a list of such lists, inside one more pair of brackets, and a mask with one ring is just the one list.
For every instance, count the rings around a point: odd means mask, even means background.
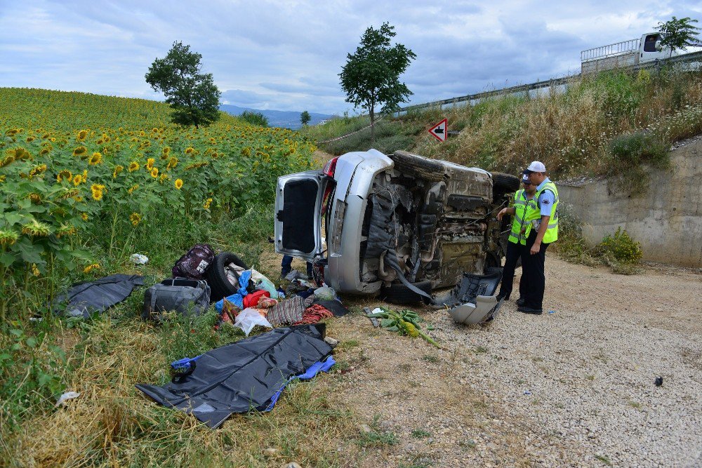
[{"label": "large black zippered sheet spread on the grass in the foreground", "polygon": [[324,323],[274,328],[206,352],[192,374],[163,387],[136,385],[163,406],[191,413],[211,428],[233,413],[263,411],[289,377],[331,354]]}]

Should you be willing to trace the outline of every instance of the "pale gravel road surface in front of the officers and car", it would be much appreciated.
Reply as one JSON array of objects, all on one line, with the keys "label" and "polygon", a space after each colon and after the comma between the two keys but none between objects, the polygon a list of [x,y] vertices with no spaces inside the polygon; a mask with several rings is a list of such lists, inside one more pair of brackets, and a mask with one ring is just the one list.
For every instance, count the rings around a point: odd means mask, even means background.
[{"label": "pale gravel road surface in front of the officers and car", "polygon": [[357,314],[330,324],[350,365],[336,398],[397,440],[349,465],[702,466],[700,272],[621,276],[554,255],[546,269],[552,313],[507,302],[465,327],[425,310],[441,350]]}]

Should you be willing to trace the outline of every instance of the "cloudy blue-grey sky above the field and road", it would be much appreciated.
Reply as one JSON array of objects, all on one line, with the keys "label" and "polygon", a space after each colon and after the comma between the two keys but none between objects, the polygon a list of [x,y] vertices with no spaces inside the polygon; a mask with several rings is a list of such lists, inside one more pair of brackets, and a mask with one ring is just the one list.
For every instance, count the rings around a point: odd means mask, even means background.
[{"label": "cloudy blue-grey sky above the field and road", "polygon": [[163,100],[144,75],[183,41],[223,104],[355,114],[338,74],[383,22],[417,55],[418,104],[578,72],[582,50],[673,15],[702,21],[702,1],[0,0],[0,87]]}]

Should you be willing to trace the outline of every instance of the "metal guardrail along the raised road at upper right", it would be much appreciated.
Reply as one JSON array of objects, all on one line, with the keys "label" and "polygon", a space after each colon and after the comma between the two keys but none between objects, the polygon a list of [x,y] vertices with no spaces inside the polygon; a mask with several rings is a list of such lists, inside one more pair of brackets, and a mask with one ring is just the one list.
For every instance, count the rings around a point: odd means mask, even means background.
[{"label": "metal guardrail along the raised road at upper right", "polygon": [[[671,58],[663,58],[661,60],[652,60],[651,62],[645,62],[639,65],[631,65],[629,67],[621,67],[621,69],[647,69],[647,68],[658,68],[662,65],[667,65],[668,63],[683,63],[683,62],[695,62],[702,61],[702,51],[685,53],[682,55],[676,55]],[[569,76],[562,76],[561,78],[548,79],[543,81],[536,81],[535,83],[522,84],[519,86],[510,86],[508,88],[496,89],[493,91],[484,91],[483,93],[467,94],[465,96],[458,96],[456,98],[442,99],[438,101],[425,102],[423,104],[414,104],[407,107],[401,107],[395,111],[395,114],[400,112],[408,112],[411,110],[425,109],[428,107],[442,107],[447,104],[458,104],[459,102],[470,102],[473,100],[480,100],[484,98],[491,98],[496,95],[514,94],[522,93],[524,91],[532,91],[541,88],[550,88],[551,86],[559,86],[568,83],[573,79],[580,78],[581,74],[576,73]]]}]

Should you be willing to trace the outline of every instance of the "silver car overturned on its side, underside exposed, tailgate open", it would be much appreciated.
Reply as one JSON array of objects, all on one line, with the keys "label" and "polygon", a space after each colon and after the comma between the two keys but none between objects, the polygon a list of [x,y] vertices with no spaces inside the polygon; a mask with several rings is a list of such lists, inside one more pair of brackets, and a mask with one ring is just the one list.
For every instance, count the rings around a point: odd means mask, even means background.
[{"label": "silver car overturned on its side, underside exposed, tailgate open", "polygon": [[278,179],[275,249],[314,262],[340,292],[416,301],[500,267],[510,222],[496,213],[518,187],[407,152],[347,153]]}]

